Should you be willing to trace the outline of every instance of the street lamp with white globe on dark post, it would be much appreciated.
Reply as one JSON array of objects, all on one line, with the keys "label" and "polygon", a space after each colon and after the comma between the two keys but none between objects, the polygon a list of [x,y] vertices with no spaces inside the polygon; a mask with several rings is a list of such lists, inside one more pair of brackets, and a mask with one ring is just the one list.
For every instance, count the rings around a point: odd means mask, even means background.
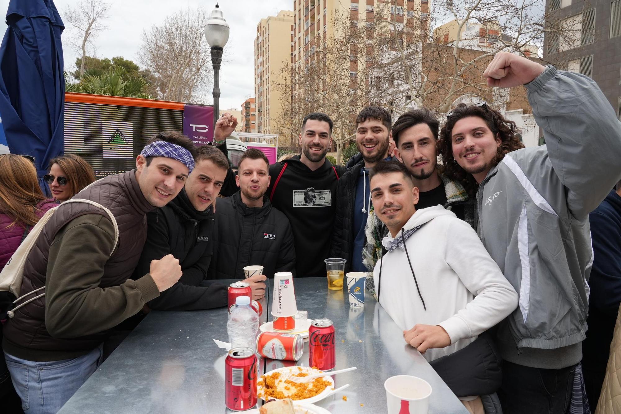
[{"label": "street lamp with white globe on dark post", "polygon": [[229,40],[229,24],[222,17],[220,6],[215,4],[211,16],[205,24],[205,39],[211,46],[211,63],[214,67],[214,127],[220,117],[220,63],[222,63],[222,50]]}]

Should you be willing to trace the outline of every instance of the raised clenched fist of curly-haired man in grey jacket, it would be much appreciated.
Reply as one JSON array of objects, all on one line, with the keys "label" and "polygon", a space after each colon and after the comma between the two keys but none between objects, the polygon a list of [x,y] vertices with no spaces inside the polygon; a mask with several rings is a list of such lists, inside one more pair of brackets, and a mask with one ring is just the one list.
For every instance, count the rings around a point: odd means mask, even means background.
[{"label": "raised clenched fist of curly-haired man in grey jacket", "polygon": [[545,67],[525,57],[509,52],[499,52],[487,65],[483,76],[487,85],[498,88],[513,88],[535,80]]}]

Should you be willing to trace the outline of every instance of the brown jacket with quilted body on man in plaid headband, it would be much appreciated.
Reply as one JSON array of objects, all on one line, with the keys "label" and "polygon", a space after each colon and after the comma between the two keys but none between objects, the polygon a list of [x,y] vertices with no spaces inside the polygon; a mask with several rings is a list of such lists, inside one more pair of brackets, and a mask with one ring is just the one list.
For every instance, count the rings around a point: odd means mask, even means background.
[{"label": "brown jacket with quilted body on man in plaid headband", "polygon": [[[112,246],[114,229],[102,209],[86,203],[66,203],[58,208],[30,251],[21,288],[24,294],[46,286],[46,296],[19,308],[4,326],[2,347],[16,357],[58,361],[86,354],[106,339],[106,331],[115,322],[134,315],[145,301],[159,295],[150,275],[125,283],[132,277],[147,237],[145,214],[153,209],[140,191],[135,170],[103,178],[75,198],[93,200],[110,209],[119,227],[119,242]],[[74,232],[68,234],[81,234],[84,239],[63,237],[72,228]],[[80,233],[84,229],[91,231]],[[100,237],[89,240],[90,234]],[[94,264],[96,260],[101,265]],[[50,281],[58,269],[62,274]],[[95,278],[91,285],[76,288],[81,278],[88,277]],[[105,288],[111,287],[120,287],[121,292],[118,288],[106,292]],[[55,309],[51,315],[47,306]],[[102,320],[97,313],[104,308],[108,317]],[[47,327],[50,321],[54,326]]]}]

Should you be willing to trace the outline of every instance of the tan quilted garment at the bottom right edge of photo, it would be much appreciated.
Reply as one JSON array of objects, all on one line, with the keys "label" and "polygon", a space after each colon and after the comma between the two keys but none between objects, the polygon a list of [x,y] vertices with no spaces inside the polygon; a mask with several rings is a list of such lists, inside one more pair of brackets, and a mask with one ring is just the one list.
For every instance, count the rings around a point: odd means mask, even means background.
[{"label": "tan quilted garment at the bottom right edge of photo", "polygon": [[621,413],[621,306],[617,314],[614,337],[610,343],[606,376],[595,414],[618,413]]}]

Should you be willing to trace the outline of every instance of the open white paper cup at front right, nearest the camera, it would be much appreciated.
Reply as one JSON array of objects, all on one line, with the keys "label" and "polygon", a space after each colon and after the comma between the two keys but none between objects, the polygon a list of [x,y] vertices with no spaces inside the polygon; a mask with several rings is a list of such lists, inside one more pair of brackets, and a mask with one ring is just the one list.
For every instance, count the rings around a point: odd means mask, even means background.
[{"label": "open white paper cup at front right, nearest the camera", "polygon": [[395,375],[384,382],[388,414],[427,414],[431,385],[419,377]]}]

